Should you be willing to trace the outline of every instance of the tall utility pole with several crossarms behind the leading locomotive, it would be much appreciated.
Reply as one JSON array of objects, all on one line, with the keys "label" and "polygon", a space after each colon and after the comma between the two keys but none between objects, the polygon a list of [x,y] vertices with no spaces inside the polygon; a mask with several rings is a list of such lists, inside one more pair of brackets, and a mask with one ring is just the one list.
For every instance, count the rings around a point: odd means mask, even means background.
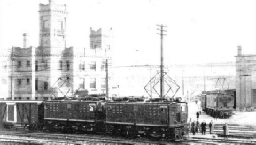
[{"label": "tall utility pole with several crossarms behind the leading locomotive", "polygon": [[163,95],[164,95],[164,50],[163,50],[163,36],[166,34],[163,34],[164,32],[167,32],[166,30],[164,30],[164,27],[167,27],[167,26],[164,26],[164,25],[157,25],[158,27],[160,27],[160,29],[158,28],[157,30],[160,31],[160,36],[161,36],[161,65],[160,65],[160,97],[163,98]]}]

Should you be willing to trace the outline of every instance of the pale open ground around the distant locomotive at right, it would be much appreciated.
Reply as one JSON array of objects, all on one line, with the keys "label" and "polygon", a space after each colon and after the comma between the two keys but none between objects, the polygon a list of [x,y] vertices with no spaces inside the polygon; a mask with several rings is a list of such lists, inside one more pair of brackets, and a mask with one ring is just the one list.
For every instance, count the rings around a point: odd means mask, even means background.
[{"label": "pale open ground around the distant locomotive at right", "polygon": [[[189,104],[189,119],[192,118],[192,121],[196,120],[196,112],[200,111],[200,102],[196,104],[195,102],[190,102]],[[214,120],[213,117],[207,115],[205,112],[201,111],[202,114],[199,117],[199,122],[206,121],[206,124],[210,123],[213,120],[214,123],[228,123],[228,124],[241,124],[241,125],[252,125],[256,126],[256,112],[237,112],[234,111],[234,114],[229,119],[217,119]]]}]

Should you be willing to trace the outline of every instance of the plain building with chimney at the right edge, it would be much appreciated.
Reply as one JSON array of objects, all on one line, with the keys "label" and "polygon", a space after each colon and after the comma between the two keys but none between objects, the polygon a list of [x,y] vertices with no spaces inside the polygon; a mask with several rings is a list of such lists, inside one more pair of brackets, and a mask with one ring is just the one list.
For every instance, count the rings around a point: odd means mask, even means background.
[{"label": "plain building with chimney at the right edge", "polygon": [[256,107],[256,55],[243,55],[238,46],[236,57],[236,108]]}]

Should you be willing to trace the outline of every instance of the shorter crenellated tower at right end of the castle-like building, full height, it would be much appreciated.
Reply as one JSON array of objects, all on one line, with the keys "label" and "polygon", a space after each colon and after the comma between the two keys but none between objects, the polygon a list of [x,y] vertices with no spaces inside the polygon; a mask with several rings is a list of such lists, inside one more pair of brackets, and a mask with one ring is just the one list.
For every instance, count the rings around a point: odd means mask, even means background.
[{"label": "shorter crenellated tower at right end of the castle-like building, full height", "polygon": [[[91,73],[91,84],[93,84],[94,77],[97,78],[101,74],[101,80],[96,80],[96,84],[101,84],[100,92],[97,94],[107,94],[112,96],[112,28],[99,28],[93,30],[90,28],[90,55],[97,57],[94,61],[96,64],[101,64],[101,72]],[[93,60],[92,60],[93,61]],[[107,62],[107,68],[106,68]],[[107,75],[106,75],[107,73]],[[95,75],[95,76],[93,76]],[[99,82],[101,81],[101,82]],[[108,88],[108,90],[106,90]],[[93,93],[92,93],[93,94]]]}]

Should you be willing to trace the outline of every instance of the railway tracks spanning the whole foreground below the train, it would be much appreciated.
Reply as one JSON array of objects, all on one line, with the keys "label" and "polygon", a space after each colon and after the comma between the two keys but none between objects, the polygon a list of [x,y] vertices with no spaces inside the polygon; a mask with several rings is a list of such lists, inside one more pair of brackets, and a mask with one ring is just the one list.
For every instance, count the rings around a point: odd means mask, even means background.
[{"label": "railway tracks spanning the whole foreground below the train", "polygon": [[[218,136],[222,134],[222,124],[215,125],[215,133]],[[208,131],[208,129],[206,130]],[[209,134],[209,133],[206,133]],[[1,136],[2,135],[2,136]],[[15,131],[4,130],[0,131],[0,141],[8,141],[17,143],[32,143],[32,144],[256,144],[256,141],[252,140],[256,135],[256,126],[243,126],[230,124],[229,125],[229,139],[223,138],[206,138],[206,137],[190,137],[185,140],[173,142],[173,141],[154,141],[145,138],[128,139],[124,137],[112,137],[108,135],[95,135],[95,134],[63,134],[63,133],[45,133],[45,132],[33,132],[28,131]],[[10,138],[11,136],[11,138]],[[232,136],[237,136],[235,139]]]}]

